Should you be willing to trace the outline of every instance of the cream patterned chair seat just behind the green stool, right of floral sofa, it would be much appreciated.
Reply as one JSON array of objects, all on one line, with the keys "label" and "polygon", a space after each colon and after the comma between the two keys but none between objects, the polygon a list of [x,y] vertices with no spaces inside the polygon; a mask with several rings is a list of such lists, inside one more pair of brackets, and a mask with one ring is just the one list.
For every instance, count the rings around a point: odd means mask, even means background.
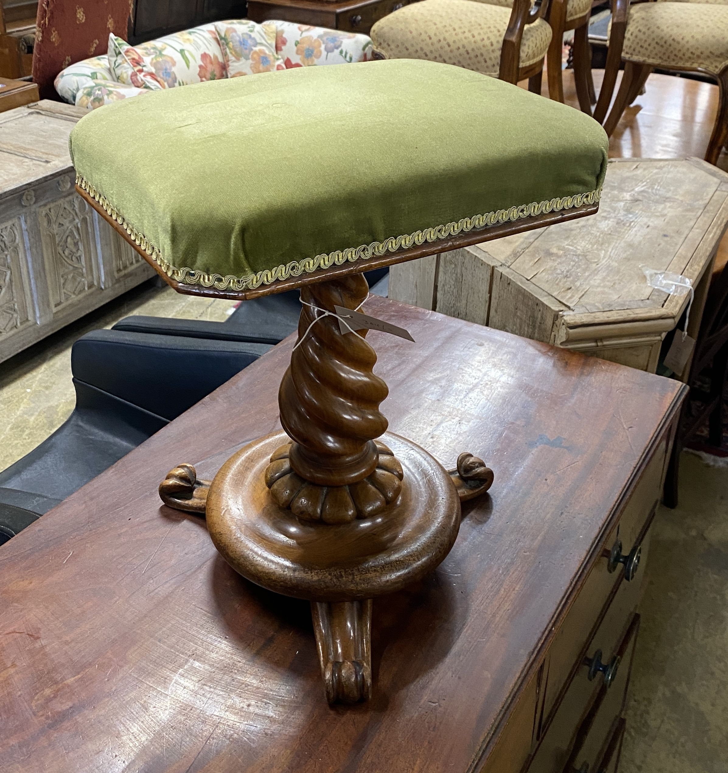
[{"label": "cream patterned chair seat just behind the green stool, right of floral sofa", "polygon": [[[426,59],[497,77],[511,9],[472,0],[422,0],[380,19],[371,28],[374,51],[386,59]],[[551,27],[525,26],[521,67],[545,56]]]}]

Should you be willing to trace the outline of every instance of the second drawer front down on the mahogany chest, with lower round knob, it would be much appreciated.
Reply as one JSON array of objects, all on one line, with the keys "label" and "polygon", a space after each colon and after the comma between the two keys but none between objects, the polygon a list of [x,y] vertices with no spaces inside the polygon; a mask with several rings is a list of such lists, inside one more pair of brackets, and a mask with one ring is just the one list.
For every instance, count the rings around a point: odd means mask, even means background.
[{"label": "second drawer front down on the mahogany chest, with lower round knob", "polygon": [[[648,533],[643,540],[644,553],[647,553],[649,547],[649,536]],[[604,685],[603,673],[593,674],[593,678],[590,679],[590,664],[598,652],[600,653],[599,661],[607,667],[613,662],[614,657],[618,656],[620,642],[624,642],[625,632],[631,628],[631,620],[634,618],[639,599],[640,587],[637,583],[623,582],[620,584],[614,600],[607,608],[603,621],[586,649],[586,656],[579,664],[563,700],[559,703],[552,721],[545,729],[534,758],[528,767],[528,773],[562,773],[569,757],[573,756],[572,749],[576,748],[576,744],[579,744],[579,729],[583,727],[584,721],[589,717],[595,702],[600,700],[600,695],[603,693],[613,696],[619,692],[620,687],[616,684],[617,679],[624,678],[629,670],[627,667],[623,667],[628,665],[624,659],[620,658],[616,676],[614,676],[608,690],[602,690]],[[590,770],[592,769],[590,767]]]}]

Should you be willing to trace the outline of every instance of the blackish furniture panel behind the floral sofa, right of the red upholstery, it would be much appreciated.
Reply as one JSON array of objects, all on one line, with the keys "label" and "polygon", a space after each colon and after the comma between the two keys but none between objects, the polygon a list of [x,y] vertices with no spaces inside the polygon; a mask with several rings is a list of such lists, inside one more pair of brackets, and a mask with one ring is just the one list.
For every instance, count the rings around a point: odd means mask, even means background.
[{"label": "blackish furniture panel behind the floral sofa, right of the red upholstery", "polygon": [[135,0],[131,43],[142,43],[180,29],[219,19],[243,19],[244,0]]}]

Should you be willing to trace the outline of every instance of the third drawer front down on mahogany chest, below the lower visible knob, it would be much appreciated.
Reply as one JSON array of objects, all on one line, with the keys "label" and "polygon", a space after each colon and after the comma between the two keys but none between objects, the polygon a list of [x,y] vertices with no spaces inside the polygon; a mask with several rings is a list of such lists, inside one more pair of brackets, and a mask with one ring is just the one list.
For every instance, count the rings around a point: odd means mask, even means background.
[{"label": "third drawer front down on mahogany chest, below the lower visible knob", "polygon": [[577,771],[598,770],[596,764],[604,755],[603,749],[609,741],[610,730],[614,727],[615,721],[621,717],[624,702],[627,699],[627,686],[639,627],[640,616],[634,615],[629,630],[617,649],[617,656],[621,659],[617,676],[614,677],[614,682],[608,690],[605,686],[600,688],[596,702],[582,727],[579,728],[570,760]]}]

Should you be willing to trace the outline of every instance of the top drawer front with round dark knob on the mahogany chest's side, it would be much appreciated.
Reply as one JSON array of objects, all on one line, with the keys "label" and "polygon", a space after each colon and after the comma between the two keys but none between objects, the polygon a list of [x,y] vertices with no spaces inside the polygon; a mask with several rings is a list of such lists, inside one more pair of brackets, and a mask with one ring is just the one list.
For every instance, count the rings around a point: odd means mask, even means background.
[{"label": "top drawer front with round dark knob on the mahogany chest's side", "polygon": [[[644,526],[655,513],[662,488],[666,451],[667,439],[661,442],[648,462],[617,526],[607,537],[603,555],[594,564],[549,648],[549,672],[543,707],[546,722],[558,703],[579,653],[598,624],[605,605],[609,603],[615,588],[624,581],[626,566],[624,563],[616,563],[614,558],[622,557],[624,562],[630,560],[632,551],[639,547],[638,540],[644,532]],[[617,550],[619,547],[621,550]],[[639,560],[643,563],[644,556],[641,555]],[[640,579],[641,570],[637,569],[633,580],[627,584],[639,584]]]}]

